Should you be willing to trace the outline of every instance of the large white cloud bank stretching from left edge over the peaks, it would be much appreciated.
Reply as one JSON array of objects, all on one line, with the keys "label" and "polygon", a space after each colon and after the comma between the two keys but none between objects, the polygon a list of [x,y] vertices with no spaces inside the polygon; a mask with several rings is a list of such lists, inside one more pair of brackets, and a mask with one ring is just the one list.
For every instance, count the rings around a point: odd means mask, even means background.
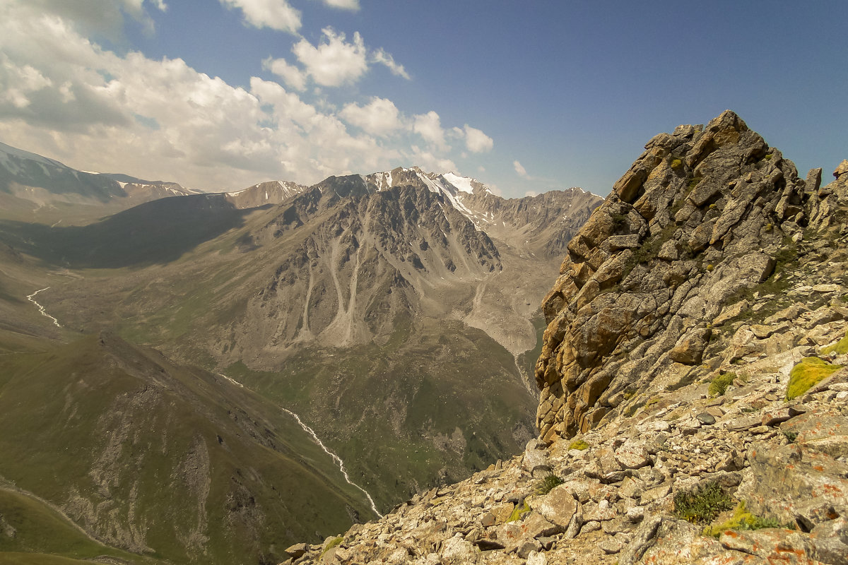
[{"label": "large white cloud bank stretching from left edge over the peaks", "polygon": [[[334,38],[357,46],[338,34],[325,45]],[[398,165],[457,169],[451,144],[467,134],[446,136],[435,112],[407,117],[382,97],[338,111],[307,100],[306,75],[275,63],[266,68],[285,86],[257,77],[232,86],[179,58],[111,52],[58,14],[0,1],[0,140],[78,169],[206,190]]]}]

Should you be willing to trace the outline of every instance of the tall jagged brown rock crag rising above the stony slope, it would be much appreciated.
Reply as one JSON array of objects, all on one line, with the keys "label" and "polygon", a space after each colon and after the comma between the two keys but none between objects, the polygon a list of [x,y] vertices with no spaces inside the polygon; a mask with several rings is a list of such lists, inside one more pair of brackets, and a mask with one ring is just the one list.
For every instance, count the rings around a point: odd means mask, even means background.
[{"label": "tall jagged brown rock crag rising above the stony slope", "polygon": [[543,438],[586,432],[672,364],[700,363],[709,324],[801,237],[805,201],[795,165],[733,112],[651,139],[544,298]]}]

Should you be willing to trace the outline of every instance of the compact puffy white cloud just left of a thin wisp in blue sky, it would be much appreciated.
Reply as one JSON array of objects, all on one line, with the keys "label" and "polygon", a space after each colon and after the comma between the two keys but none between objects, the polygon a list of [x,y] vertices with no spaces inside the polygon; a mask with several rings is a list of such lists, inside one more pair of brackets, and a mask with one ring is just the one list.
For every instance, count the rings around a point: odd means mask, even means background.
[{"label": "compact puffy white cloud just left of a thin wisp in blue sky", "polygon": [[343,33],[332,28],[321,30],[324,42],[313,46],[306,39],[297,42],[292,51],[306,72],[321,86],[342,86],[353,83],[365,75],[368,63],[365,58],[365,42],[357,31],[354,42],[345,42]]}]

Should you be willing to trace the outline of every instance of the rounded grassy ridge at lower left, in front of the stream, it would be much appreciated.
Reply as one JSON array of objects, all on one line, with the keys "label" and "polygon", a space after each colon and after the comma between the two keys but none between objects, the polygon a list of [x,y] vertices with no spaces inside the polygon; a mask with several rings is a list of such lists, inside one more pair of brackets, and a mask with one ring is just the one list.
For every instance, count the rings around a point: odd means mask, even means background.
[{"label": "rounded grassy ridge at lower left, in front of the stream", "polygon": [[0,356],[0,427],[4,479],[127,551],[276,562],[371,517],[271,403],[114,335]]}]

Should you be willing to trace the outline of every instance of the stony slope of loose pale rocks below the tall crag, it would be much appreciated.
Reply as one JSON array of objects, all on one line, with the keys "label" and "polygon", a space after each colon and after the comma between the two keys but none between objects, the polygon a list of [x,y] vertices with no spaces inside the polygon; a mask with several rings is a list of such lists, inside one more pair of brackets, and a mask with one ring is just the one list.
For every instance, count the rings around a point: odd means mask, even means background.
[{"label": "stony slope of loose pale rocks below the tall crag", "polygon": [[[785,398],[790,369],[839,341],[845,319],[840,305],[789,307],[766,324],[779,333],[747,345],[787,335],[803,345],[734,364],[739,376],[721,396],[707,383],[689,385],[574,440],[533,440],[522,456],[429,490],[382,520],[323,546],[293,546],[289,562],[846,563],[848,368]],[[550,475],[562,484],[539,494]],[[711,486],[729,504],[716,502],[712,519],[709,507],[692,518],[700,523],[681,519],[676,497]],[[739,501],[751,521],[775,527],[728,523]],[[717,537],[704,535],[722,523]]]}]

